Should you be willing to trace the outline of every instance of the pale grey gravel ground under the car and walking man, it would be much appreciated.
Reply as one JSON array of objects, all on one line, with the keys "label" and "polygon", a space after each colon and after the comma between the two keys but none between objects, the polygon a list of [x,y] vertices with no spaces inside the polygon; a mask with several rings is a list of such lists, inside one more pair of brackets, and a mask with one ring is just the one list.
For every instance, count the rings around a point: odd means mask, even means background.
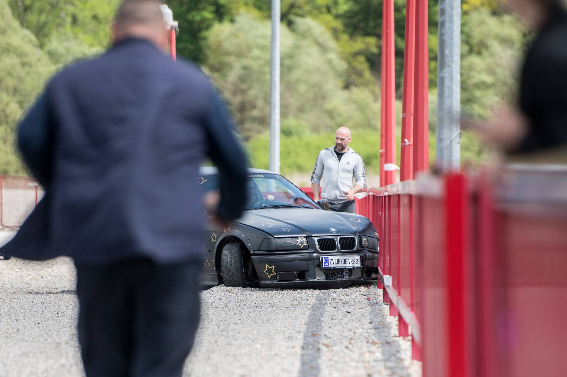
[{"label": "pale grey gravel ground under the car and walking man", "polygon": [[[0,231],[0,245],[6,240]],[[81,376],[75,271],[68,258],[0,260],[0,377]],[[185,376],[421,376],[371,286],[275,290],[217,286]]]}]

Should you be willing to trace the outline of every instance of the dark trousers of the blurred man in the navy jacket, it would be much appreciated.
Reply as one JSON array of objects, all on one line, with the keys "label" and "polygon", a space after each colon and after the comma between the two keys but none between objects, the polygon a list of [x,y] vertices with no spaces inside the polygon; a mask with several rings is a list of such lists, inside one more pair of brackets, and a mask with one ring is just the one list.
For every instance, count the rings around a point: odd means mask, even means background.
[{"label": "dark trousers of the blurred man in the navy jacket", "polygon": [[181,376],[199,322],[197,262],[77,266],[88,377]]}]

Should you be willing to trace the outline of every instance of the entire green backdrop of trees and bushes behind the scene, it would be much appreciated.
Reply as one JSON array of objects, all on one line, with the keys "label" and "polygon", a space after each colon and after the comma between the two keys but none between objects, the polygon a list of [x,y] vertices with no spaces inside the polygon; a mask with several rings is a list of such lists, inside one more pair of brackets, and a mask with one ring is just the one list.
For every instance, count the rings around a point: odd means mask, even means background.
[{"label": "entire green backdrop of trees and bushes behind the scene", "polygon": [[[18,119],[49,76],[76,59],[104,51],[120,0],[0,0],[0,173],[27,174],[14,148]],[[222,92],[248,145],[252,164],[267,167],[270,2],[171,0],[179,20],[177,54],[199,63]],[[379,167],[382,0],[282,0],[282,172],[308,173],[340,126],[366,168]],[[437,12],[430,2],[430,156],[434,162]],[[400,134],[405,2],[395,0],[396,123]],[[488,117],[514,101],[515,75],[530,38],[494,0],[464,0],[462,109]],[[399,139],[398,139],[399,140]],[[399,144],[399,142],[396,142]],[[490,153],[464,132],[462,160]]]}]

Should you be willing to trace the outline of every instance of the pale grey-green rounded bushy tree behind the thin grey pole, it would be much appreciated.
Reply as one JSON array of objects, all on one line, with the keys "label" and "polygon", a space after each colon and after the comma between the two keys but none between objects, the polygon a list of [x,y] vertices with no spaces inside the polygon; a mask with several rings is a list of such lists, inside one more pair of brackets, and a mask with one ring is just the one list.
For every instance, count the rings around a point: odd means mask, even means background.
[{"label": "pale grey-green rounded bushy tree behind the thin grey pole", "polygon": [[[215,26],[206,70],[231,105],[246,138],[269,126],[270,23],[247,13]],[[327,29],[309,18],[281,28],[282,119],[301,119],[314,132],[340,126],[376,127],[379,104],[371,91],[344,88],[346,64]]]}]

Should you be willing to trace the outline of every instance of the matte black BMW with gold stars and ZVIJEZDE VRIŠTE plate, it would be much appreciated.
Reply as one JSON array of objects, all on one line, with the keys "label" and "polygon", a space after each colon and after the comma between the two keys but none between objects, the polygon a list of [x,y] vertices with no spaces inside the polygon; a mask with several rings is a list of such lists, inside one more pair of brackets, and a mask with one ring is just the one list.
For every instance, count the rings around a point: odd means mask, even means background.
[{"label": "matte black BMW with gold stars and ZVIJEZDE VRI\u0160TE plate", "polygon": [[[203,167],[204,191],[218,189]],[[205,220],[202,282],[270,288],[342,288],[375,282],[378,234],[364,216],[325,211],[280,174],[249,169],[247,204],[225,229]],[[327,205],[325,205],[327,204]]]}]

